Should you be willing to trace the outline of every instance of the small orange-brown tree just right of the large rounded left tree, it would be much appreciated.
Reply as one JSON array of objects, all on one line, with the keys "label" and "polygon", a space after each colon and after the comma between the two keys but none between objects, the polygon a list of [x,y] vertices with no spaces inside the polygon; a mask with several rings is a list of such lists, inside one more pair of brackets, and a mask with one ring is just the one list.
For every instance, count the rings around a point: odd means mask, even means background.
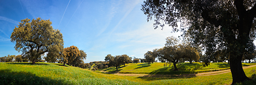
[{"label": "small orange-brown tree just right of the large rounded left tree", "polygon": [[74,59],[76,59],[78,56],[80,56],[80,51],[78,47],[76,46],[70,46],[70,47],[65,47],[63,51],[63,62],[65,63],[68,62],[68,64],[72,64],[75,66]]}]

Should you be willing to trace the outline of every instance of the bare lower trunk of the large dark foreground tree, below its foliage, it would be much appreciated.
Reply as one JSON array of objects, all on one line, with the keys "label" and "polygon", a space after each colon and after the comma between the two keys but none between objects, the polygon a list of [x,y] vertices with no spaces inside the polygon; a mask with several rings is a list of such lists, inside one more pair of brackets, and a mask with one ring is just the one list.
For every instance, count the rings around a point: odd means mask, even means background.
[{"label": "bare lower trunk of the large dark foreground tree, below its foliage", "polygon": [[249,79],[243,71],[241,61],[242,55],[237,56],[237,58],[235,58],[235,56],[230,57],[230,71],[233,78],[232,84],[240,83],[246,79]]}]

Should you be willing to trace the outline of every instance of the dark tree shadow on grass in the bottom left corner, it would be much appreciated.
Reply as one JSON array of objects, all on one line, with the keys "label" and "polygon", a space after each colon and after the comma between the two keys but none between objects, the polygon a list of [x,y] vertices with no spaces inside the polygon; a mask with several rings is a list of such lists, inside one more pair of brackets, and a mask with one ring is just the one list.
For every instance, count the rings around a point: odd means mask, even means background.
[{"label": "dark tree shadow on grass in the bottom left corner", "polygon": [[13,72],[10,69],[0,70],[0,84],[68,84],[62,79],[50,79],[36,76],[33,73],[19,71]]}]

